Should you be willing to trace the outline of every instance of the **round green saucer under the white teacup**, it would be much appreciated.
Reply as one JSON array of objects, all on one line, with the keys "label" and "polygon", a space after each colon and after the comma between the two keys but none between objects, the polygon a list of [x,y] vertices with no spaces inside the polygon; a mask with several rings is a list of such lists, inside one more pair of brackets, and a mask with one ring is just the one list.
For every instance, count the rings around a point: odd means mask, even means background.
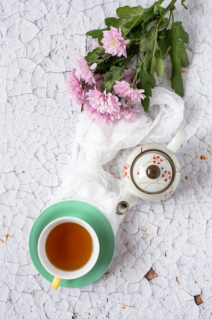
[{"label": "round green saucer under the white teacup", "polygon": [[45,226],[56,218],[78,217],[94,228],[99,238],[100,254],[92,270],[77,279],[62,279],[60,286],[76,288],[86,286],[99,279],[108,269],[115,251],[115,238],[112,227],[104,214],[96,207],[81,201],[65,200],[46,208],[36,219],[29,234],[29,254],[38,272],[48,281],[53,276],[49,274],[40,262],[38,256],[38,239]]}]

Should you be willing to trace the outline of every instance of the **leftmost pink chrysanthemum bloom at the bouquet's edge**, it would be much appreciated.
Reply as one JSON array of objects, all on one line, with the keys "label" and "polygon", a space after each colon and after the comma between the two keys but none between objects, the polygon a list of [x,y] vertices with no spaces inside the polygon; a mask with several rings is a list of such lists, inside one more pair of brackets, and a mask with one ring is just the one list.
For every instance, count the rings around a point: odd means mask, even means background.
[{"label": "leftmost pink chrysanthemum bloom at the bouquet's edge", "polygon": [[86,91],[83,89],[78,69],[72,69],[71,73],[67,76],[66,89],[69,96],[77,102],[77,104],[83,103]]}]

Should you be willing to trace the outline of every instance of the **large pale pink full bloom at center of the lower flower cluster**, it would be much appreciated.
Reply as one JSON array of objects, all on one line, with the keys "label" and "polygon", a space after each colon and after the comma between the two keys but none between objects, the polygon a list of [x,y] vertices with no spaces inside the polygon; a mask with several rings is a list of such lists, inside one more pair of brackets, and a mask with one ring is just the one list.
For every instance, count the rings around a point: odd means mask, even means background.
[{"label": "large pale pink full bloom at center of the lower flower cluster", "polygon": [[89,101],[89,104],[101,113],[106,112],[112,114],[120,109],[119,106],[121,104],[118,101],[118,97],[111,93],[106,93],[106,89],[103,93],[96,88],[94,90],[89,90],[88,93],[86,93],[86,98]]}]

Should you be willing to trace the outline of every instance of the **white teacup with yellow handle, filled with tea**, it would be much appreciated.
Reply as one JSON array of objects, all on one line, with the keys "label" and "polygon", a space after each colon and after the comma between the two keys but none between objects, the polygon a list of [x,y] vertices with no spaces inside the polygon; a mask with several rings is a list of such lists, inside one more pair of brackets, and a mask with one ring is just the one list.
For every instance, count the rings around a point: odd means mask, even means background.
[{"label": "white teacup with yellow handle, filled with tea", "polygon": [[95,230],[76,217],[62,217],[50,222],[38,240],[38,255],[43,267],[54,276],[52,288],[61,279],[76,279],[87,274],[99,257]]}]

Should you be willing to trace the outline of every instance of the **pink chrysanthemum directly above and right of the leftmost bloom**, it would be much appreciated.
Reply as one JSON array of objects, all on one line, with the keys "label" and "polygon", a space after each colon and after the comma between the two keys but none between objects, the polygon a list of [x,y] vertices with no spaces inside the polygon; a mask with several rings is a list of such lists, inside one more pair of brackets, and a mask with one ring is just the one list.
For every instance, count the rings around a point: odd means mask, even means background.
[{"label": "pink chrysanthemum directly above and right of the leftmost bloom", "polygon": [[88,66],[85,58],[80,55],[76,57],[76,62],[79,66],[81,78],[83,78],[88,85],[92,86],[93,84],[96,84],[93,70],[96,69],[97,63],[93,63],[91,66]]}]

